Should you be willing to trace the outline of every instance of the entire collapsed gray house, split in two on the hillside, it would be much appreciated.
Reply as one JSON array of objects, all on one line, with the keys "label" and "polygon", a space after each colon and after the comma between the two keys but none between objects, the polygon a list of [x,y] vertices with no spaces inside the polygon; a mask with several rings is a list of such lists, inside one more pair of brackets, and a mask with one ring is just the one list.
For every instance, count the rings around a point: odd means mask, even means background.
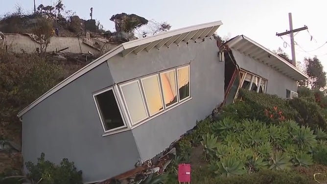
[{"label": "entire collapsed gray house, split in two on the hillside", "polygon": [[240,87],[286,98],[307,78],[245,36],[217,45],[220,25],[120,44],[70,75],[18,114],[24,161],[68,158],[86,184],[134,174]]}]

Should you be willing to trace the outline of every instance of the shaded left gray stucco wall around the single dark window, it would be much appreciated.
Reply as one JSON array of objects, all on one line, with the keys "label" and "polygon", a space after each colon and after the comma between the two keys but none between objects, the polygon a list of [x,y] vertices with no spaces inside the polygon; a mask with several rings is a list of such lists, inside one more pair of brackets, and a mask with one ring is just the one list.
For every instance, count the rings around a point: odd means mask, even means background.
[{"label": "shaded left gray stucco wall around the single dark window", "polygon": [[23,115],[23,159],[74,161],[84,182],[108,179],[133,169],[140,158],[132,132],[102,137],[92,93],[114,84],[107,63],[55,92]]}]

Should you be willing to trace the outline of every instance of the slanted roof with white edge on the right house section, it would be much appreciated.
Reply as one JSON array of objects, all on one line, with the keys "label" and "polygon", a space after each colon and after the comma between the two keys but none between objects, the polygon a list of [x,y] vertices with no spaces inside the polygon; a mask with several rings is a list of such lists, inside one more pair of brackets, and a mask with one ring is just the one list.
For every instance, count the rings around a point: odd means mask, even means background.
[{"label": "slanted roof with white edge on the right house section", "polygon": [[273,69],[296,81],[301,81],[308,78],[308,76],[300,69],[296,68],[279,55],[244,35],[236,36],[226,42],[224,45],[227,45],[230,48],[233,48],[259,62],[262,62],[263,64],[272,67]]}]

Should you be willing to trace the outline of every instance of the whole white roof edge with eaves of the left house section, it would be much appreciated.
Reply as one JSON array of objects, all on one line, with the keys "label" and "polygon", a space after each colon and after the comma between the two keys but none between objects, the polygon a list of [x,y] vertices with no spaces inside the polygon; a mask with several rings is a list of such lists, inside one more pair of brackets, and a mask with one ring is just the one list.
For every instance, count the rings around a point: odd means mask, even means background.
[{"label": "whole white roof edge with eaves of the left house section", "polygon": [[190,40],[197,40],[197,39],[204,39],[205,37],[211,37],[214,32],[218,29],[220,25],[223,23],[221,21],[211,22],[211,23],[203,23],[198,25],[193,25],[181,29],[171,30],[167,32],[163,32],[154,36],[149,36],[146,38],[133,40],[130,42],[126,42],[120,44],[119,46],[113,48],[112,50],[108,51],[107,53],[103,54],[93,62],[89,63],[82,69],[79,69],[75,73],[71,74],[65,80],[61,81],[59,84],[51,88],[49,91],[44,93],[30,105],[25,107],[22,111],[18,113],[18,117],[21,117],[23,114],[31,110],[34,106],[45,100],[47,97],[52,95],[53,93],[57,92],[58,90],[62,89],[70,82],[74,81],[75,79],[79,78],[83,74],[87,73],[91,69],[97,67],[101,63],[107,61],[111,57],[121,53],[123,57],[130,53],[138,54],[142,50],[146,50],[149,52],[152,48],[156,47],[160,49],[163,46],[169,47],[172,44],[179,45],[181,42],[188,42]]}]

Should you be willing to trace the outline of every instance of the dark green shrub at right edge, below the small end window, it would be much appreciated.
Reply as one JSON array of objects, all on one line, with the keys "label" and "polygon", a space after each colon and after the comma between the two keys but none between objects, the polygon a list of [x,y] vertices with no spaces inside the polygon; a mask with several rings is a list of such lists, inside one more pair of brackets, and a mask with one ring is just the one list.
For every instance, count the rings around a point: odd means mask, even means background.
[{"label": "dark green shrub at right edge, below the small end window", "polygon": [[327,121],[325,116],[321,112],[321,108],[315,102],[310,102],[302,98],[294,98],[289,100],[292,108],[299,112],[299,118],[297,122],[300,125],[309,126],[312,129],[318,127],[326,130]]}]

